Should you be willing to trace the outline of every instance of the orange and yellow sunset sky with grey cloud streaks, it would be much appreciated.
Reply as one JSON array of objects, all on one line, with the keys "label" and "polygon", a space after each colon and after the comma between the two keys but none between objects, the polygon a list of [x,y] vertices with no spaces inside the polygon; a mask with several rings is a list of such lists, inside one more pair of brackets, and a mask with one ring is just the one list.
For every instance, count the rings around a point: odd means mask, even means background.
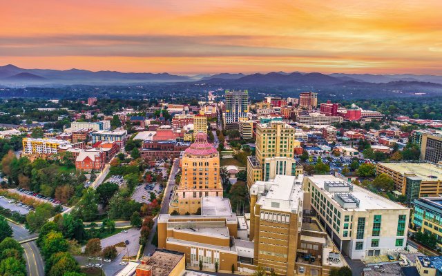
[{"label": "orange and yellow sunset sky with grey cloud streaks", "polygon": [[0,3],[0,66],[442,75],[441,0]]}]

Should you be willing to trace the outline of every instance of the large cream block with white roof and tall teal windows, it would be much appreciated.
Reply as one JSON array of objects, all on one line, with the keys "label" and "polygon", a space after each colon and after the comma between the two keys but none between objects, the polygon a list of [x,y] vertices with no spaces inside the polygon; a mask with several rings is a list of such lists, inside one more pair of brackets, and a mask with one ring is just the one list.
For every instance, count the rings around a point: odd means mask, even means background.
[{"label": "large cream block with white roof and tall teal windows", "polygon": [[333,175],[305,177],[305,200],[351,259],[386,255],[407,244],[410,209]]}]

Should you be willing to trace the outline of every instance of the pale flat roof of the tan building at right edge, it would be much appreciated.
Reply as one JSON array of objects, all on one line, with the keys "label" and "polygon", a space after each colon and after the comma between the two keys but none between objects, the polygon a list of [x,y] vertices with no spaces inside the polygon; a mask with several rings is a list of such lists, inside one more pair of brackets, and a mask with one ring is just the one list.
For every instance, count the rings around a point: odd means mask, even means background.
[{"label": "pale flat roof of the tan building at right edge", "polygon": [[441,181],[442,180],[442,166],[437,166],[431,163],[413,163],[413,162],[398,162],[398,163],[378,163],[381,166],[390,168],[399,172],[401,175],[405,173],[414,172],[416,176],[421,177],[423,181]]}]

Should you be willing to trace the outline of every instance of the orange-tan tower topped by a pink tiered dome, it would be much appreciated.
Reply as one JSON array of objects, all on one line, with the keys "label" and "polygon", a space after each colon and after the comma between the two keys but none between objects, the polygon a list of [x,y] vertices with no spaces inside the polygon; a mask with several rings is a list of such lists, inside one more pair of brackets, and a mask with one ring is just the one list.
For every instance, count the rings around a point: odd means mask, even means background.
[{"label": "orange-tan tower topped by a pink tiered dome", "polygon": [[194,214],[201,207],[202,197],[222,197],[220,154],[207,142],[207,135],[199,132],[195,143],[184,150],[181,161],[182,176],[173,194],[169,213]]}]

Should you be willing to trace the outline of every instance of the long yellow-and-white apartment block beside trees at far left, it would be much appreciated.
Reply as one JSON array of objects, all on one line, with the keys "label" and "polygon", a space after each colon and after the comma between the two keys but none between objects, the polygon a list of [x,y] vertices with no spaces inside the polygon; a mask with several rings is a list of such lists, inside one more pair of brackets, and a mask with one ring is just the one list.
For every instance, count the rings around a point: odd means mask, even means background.
[{"label": "long yellow-and-white apartment block beside trees at far left", "polygon": [[69,141],[40,138],[23,138],[22,144],[24,155],[55,155],[60,152],[60,146],[70,146]]}]

